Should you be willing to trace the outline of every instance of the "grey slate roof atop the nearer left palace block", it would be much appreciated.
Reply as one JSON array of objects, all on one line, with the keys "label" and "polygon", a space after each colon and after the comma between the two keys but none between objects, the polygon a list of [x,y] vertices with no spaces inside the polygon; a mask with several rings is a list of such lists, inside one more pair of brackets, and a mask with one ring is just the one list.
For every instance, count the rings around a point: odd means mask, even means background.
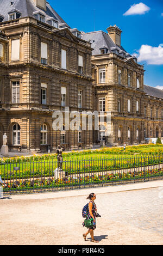
[{"label": "grey slate roof atop the nearer left palace block", "polygon": [[45,15],[45,22],[47,18],[53,17],[55,20],[58,20],[59,24],[66,23],[58,15],[58,13],[56,13],[56,11],[51,7],[51,5],[48,2],[46,2],[46,6],[47,6],[46,11],[36,7],[32,0],[13,0],[12,2],[14,2],[13,5],[11,5],[11,0],[0,0],[0,15],[4,16],[3,21],[8,21],[8,13],[13,9],[16,9],[21,13],[20,18],[22,17],[34,18],[33,12],[40,11],[43,15]]}]

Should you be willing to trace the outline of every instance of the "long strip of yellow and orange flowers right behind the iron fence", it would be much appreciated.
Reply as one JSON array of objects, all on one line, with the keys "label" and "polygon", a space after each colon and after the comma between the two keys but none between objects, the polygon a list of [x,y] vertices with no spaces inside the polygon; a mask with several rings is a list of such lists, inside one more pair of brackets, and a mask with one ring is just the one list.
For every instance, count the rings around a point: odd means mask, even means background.
[{"label": "long strip of yellow and orange flowers right behind the iron fence", "polygon": [[111,173],[105,175],[85,175],[67,178],[57,179],[55,178],[37,178],[33,180],[24,181],[12,181],[5,182],[3,186],[4,192],[7,191],[23,191],[23,190],[37,190],[41,188],[60,188],[60,187],[74,187],[74,186],[84,186],[84,185],[95,185],[95,184],[107,184],[108,182],[114,181],[125,181],[125,180],[136,180],[144,179],[150,177],[160,177],[163,174],[163,168],[157,170],[144,170],[139,172],[123,172],[123,173]]}]

